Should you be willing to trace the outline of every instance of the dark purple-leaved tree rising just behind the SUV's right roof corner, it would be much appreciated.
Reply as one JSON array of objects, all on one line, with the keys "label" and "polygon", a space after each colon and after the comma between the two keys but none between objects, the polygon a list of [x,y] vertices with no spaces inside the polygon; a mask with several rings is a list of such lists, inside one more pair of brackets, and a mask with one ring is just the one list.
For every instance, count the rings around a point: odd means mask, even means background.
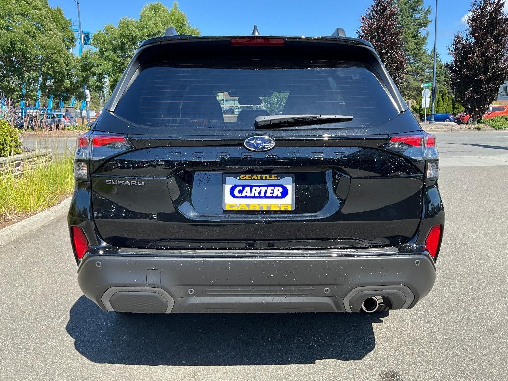
[{"label": "dark purple-leaved tree rising just behind the SUV's right roof corner", "polygon": [[397,87],[400,87],[403,82],[406,59],[397,20],[398,14],[394,0],[374,0],[374,4],[362,16],[357,34],[359,38],[372,44],[385,63],[393,81]]}]

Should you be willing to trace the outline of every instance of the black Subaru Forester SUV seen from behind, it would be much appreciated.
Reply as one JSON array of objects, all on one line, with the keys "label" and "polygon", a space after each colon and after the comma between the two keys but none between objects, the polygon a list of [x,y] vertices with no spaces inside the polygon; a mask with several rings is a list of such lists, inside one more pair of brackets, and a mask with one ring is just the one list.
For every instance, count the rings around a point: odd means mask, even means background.
[{"label": "black Subaru Forester SUV seen from behind", "polygon": [[77,142],[84,294],[123,312],[374,312],[427,295],[444,225],[433,136],[372,46],[142,43]]}]

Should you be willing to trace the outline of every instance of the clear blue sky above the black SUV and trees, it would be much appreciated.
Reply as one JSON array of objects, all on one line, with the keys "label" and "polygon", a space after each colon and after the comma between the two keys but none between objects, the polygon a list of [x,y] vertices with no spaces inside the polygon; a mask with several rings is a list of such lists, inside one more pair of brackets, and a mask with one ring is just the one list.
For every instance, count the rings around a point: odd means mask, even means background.
[{"label": "clear blue sky above the black SUV and trees", "polygon": [[[155,1],[155,0],[153,0]],[[81,0],[83,30],[94,32],[106,24],[116,24],[121,17],[139,18],[145,0]],[[161,1],[171,8],[172,1]],[[248,35],[257,24],[262,35],[325,36],[342,27],[347,36],[356,37],[360,17],[372,0],[271,0],[227,1],[180,0],[179,8],[202,35]],[[75,0],[49,0],[51,7],[60,7],[68,18],[78,19]],[[311,5],[311,6],[310,6]],[[434,0],[425,0],[432,7]],[[439,0],[437,20],[437,51],[443,60],[450,60],[448,47],[453,36],[466,27],[469,0]],[[508,0],[505,5],[508,12]],[[432,48],[434,21],[429,25],[428,48]]]}]

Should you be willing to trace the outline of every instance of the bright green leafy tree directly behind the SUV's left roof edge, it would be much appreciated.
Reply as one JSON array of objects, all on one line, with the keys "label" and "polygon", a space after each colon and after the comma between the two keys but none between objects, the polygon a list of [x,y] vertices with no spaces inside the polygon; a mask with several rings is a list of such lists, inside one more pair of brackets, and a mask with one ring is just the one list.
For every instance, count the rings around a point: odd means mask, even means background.
[{"label": "bright green leafy tree directly behind the SUV's left roof edge", "polygon": [[163,36],[168,26],[174,26],[180,35],[200,34],[176,2],[171,10],[162,3],[150,3],[143,7],[139,19],[123,17],[117,26],[106,25],[93,34],[95,49],[81,59],[82,80],[96,91],[106,84],[112,91],[141,42]]}]

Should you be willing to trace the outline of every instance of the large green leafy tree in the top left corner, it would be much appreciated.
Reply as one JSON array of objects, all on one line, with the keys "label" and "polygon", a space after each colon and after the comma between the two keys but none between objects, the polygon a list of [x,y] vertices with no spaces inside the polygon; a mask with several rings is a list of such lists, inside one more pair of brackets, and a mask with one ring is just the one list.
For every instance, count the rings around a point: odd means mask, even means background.
[{"label": "large green leafy tree in the top left corner", "polygon": [[15,101],[41,93],[68,98],[77,86],[71,22],[47,0],[0,0],[0,94]]}]

